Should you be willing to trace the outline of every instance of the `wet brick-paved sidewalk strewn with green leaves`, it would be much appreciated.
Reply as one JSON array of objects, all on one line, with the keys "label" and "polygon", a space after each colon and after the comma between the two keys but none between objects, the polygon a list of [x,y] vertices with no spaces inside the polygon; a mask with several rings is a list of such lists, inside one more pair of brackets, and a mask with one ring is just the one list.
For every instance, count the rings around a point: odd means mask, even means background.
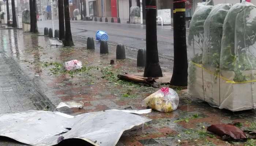
[{"label": "wet brick-paved sidewalk strewn with green leaves", "polygon": [[[99,54],[97,49],[86,50],[86,41],[74,37],[75,47],[49,46],[47,37],[24,33],[21,30],[0,30],[0,113],[14,113],[31,109],[54,109],[59,102],[82,101],[82,109],[72,109],[72,115],[108,109],[145,109],[141,103],[157,88],[117,80],[118,73],[142,72],[136,61],[115,59],[115,47],[110,54]],[[82,61],[80,72],[65,72],[63,63],[72,59]],[[116,65],[109,65],[115,59]],[[167,71],[167,70],[165,70]],[[164,85],[162,85],[164,87]],[[242,129],[256,128],[256,112],[230,112],[210,107],[207,103],[191,100],[186,91],[180,95],[178,110],[170,113],[145,114],[152,121],[144,127],[125,131],[118,146],[214,146],[256,145],[247,142],[222,141],[206,131],[207,126],[241,122]],[[198,118],[185,120],[199,115]],[[178,122],[177,120],[180,120]],[[251,144],[250,144],[251,143]],[[0,138],[0,145],[17,144]]]}]

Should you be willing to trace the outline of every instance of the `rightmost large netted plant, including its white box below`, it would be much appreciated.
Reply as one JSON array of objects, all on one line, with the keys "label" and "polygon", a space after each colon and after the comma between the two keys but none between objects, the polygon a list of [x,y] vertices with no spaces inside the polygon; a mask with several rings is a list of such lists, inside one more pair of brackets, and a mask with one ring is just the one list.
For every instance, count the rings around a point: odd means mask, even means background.
[{"label": "rightmost large netted plant, including its white box below", "polygon": [[255,69],[256,6],[243,1],[231,7],[223,24],[219,108],[256,108]]}]

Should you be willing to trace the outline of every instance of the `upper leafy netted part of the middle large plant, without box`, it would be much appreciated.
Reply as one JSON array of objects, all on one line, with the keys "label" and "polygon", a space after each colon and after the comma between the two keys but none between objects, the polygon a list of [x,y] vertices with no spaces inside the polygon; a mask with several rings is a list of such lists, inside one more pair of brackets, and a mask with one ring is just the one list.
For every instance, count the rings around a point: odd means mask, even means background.
[{"label": "upper leafy netted part of the middle large plant, without box", "polygon": [[215,5],[204,23],[203,66],[219,72],[223,23],[231,4]]}]

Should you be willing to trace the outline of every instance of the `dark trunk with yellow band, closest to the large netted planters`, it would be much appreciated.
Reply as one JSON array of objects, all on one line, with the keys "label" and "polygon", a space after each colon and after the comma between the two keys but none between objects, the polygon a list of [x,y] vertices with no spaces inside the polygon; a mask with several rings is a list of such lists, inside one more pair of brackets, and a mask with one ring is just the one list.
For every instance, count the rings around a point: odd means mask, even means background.
[{"label": "dark trunk with yellow band, closest to the large netted planters", "polygon": [[173,1],[174,65],[170,85],[175,87],[188,85],[185,11],[185,0]]}]

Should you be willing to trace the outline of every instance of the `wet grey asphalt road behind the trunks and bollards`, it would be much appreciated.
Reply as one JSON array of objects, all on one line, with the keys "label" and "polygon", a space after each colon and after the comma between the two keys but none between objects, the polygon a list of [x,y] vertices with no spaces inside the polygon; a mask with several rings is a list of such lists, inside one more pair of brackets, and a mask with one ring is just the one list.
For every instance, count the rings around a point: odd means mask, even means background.
[{"label": "wet grey asphalt road behind the trunks and bollards", "polygon": [[[44,27],[51,28],[50,20],[38,22],[38,29],[43,33]],[[54,20],[54,29],[59,29],[59,21]],[[122,43],[131,49],[146,49],[146,26],[139,24],[119,24],[93,21],[72,21],[72,35],[79,37],[94,37],[98,30],[106,31],[109,35],[109,42],[113,44]],[[187,30],[188,34],[188,30]],[[158,53],[159,57],[166,60],[173,60],[173,29],[170,26],[158,26]],[[189,50],[189,49],[188,49]],[[190,58],[190,53],[189,58]]]}]

